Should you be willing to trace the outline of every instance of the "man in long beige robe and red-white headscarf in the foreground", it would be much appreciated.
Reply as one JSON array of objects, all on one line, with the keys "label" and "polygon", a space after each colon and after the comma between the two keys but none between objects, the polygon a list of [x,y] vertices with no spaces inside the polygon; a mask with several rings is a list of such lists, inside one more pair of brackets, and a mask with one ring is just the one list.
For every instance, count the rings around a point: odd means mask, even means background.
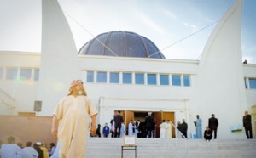
[{"label": "man in long beige robe and red-white headscarf in the foreground", "polygon": [[59,158],[84,158],[90,120],[90,133],[96,135],[97,110],[90,104],[81,80],[73,81],[69,91],[55,108],[51,132],[61,146]]}]

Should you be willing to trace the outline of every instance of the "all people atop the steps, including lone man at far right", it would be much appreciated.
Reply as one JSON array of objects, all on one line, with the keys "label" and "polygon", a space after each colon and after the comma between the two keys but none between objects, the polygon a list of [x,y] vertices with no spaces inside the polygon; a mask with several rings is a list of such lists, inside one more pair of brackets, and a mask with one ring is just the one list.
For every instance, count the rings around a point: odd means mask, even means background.
[{"label": "all people atop the steps, including lone man at far right", "polygon": [[[115,118],[120,117],[120,111],[118,115],[114,116],[114,119],[110,121],[111,127],[108,127],[108,123],[105,124],[105,127],[103,127],[102,133],[104,134],[104,137],[108,137],[109,133],[111,134],[111,137],[122,137],[124,134],[126,135],[134,135],[137,138],[154,138],[154,131],[155,131],[155,121],[154,116],[151,115],[151,112],[148,112],[148,116],[145,118],[145,122],[142,123],[140,120],[133,121],[131,120],[128,123],[128,129],[126,132],[125,124],[123,117],[121,116],[121,126],[115,125]],[[117,121],[117,120],[116,120]],[[243,127],[245,128],[246,136],[247,138],[253,138],[252,135],[252,119],[251,115],[248,114],[248,111],[245,111],[245,115],[243,116]],[[196,120],[194,121],[195,124],[195,137],[194,138],[204,138],[206,141],[211,141],[212,138],[217,138],[217,131],[218,131],[218,119],[215,117],[214,114],[211,115],[211,117],[208,119],[207,127],[204,130],[204,133],[202,133],[202,120],[199,115],[196,115]],[[119,127],[119,128],[117,128]],[[160,138],[172,138],[172,122],[169,120],[162,120],[162,123],[160,123]],[[144,130],[143,130],[144,129]],[[180,136],[180,138],[188,138],[188,124],[186,123],[185,119],[183,119],[182,122],[177,121],[177,130],[178,134],[177,137]],[[120,134],[119,134],[120,132]],[[145,135],[143,134],[145,133]]]}]

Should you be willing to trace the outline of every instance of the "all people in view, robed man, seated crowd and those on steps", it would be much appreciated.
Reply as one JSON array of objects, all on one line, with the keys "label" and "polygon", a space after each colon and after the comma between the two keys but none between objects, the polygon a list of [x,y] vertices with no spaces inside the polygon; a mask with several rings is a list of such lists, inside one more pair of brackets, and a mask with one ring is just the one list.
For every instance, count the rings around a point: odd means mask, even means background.
[{"label": "all people in view, robed man, seated crowd and those on steps", "polygon": [[[55,107],[51,133],[58,139],[57,147],[52,143],[50,144],[50,150],[47,150],[46,144],[36,142],[32,145],[30,141],[26,143],[26,147],[23,147],[22,144],[15,143],[15,137],[9,137],[7,144],[3,144],[0,141],[0,158],[84,157],[89,127],[92,137],[101,137],[101,125],[98,124],[96,129],[97,113],[96,108],[90,104],[90,99],[87,97],[83,82],[81,80],[74,80],[70,85],[67,96],[63,97]],[[202,138],[202,121],[199,115],[196,118],[196,138]],[[88,120],[91,120],[90,123]],[[245,111],[242,121],[247,138],[253,138],[252,120],[248,111]],[[151,112],[148,112],[148,116],[146,116],[143,123],[140,120],[131,120],[127,131],[124,122],[123,116],[118,111],[118,114],[113,116],[113,119],[110,121],[110,127],[108,127],[108,123],[105,123],[102,129],[103,136],[107,138],[109,133],[111,133],[111,137],[114,138],[121,138],[124,135],[133,135],[137,138],[154,138],[156,123]],[[160,138],[172,138],[171,124],[170,121],[162,120],[160,124]],[[61,130],[58,131],[58,129]],[[182,123],[177,123],[177,129],[182,133],[183,138],[188,138],[188,124],[184,119]],[[209,118],[204,138],[210,141],[212,134],[214,138],[217,138],[217,129],[218,119],[212,114],[212,117]]]}]

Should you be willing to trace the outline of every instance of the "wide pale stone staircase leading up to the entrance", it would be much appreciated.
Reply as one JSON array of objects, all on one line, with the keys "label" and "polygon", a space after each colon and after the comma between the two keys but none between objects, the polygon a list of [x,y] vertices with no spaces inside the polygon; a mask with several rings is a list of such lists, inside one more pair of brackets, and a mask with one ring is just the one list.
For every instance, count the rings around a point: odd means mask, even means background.
[{"label": "wide pale stone staircase leading up to the entrance", "polygon": [[[120,158],[123,138],[89,138],[86,158]],[[137,158],[255,158],[256,139],[137,138]],[[124,158],[135,150],[123,150]]]}]

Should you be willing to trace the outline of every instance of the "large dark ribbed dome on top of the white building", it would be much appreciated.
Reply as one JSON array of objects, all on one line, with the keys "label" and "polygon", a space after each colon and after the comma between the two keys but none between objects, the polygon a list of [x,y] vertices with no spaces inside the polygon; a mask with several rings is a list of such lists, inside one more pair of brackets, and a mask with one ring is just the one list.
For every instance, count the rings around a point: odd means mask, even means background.
[{"label": "large dark ribbed dome on top of the white building", "polygon": [[154,42],[128,31],[102,33],[85,43],[79,54],[166,59]]}]

